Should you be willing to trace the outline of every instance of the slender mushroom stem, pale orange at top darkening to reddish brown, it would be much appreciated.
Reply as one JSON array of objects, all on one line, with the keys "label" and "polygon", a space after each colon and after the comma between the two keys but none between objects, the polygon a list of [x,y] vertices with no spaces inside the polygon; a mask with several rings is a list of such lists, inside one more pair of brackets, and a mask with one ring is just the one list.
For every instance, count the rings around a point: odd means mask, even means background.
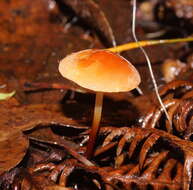
[{"label": "slender mushroom stem, pale orange at top darkening to reddish brown", "polygon": [[86,157],[90,159],[93,155],[95,140],[97,138],[98,131],[100,129],[99,123],[101,120],[103,106],[103,93],[97,92],[95,97],[95,107],[94,107],[94,116],[92,122],[92,128],[89,135],[89,140],[86,149]]}]

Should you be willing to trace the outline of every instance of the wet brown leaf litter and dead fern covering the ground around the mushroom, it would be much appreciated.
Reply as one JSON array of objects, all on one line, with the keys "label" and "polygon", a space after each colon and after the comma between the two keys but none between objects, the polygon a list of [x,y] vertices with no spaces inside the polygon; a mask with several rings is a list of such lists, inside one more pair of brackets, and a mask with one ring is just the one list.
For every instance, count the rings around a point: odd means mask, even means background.
[{"label": "wet brown leaf litter and dead fern covering the ground around the mushroom", "polygon": [[[188,0],[138,1],[137,35],[189,37],[192,10]],[[145,47],[172,125],[143,54],[122,53],[143,94],[104,95],[94,156],[85,156],[94,94],[63,79],[58,61],[132,42],[131,16],[129,0],[0,1],[0,189],[193,189],[191,42]]]}]

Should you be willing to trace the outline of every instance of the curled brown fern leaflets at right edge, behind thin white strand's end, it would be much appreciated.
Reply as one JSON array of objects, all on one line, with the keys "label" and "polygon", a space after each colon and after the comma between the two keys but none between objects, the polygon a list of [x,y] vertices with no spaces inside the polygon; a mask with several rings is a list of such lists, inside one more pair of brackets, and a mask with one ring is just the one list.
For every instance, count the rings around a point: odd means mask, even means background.
[{"label": "curled brown fern leaflets at right edge, behind thin white strand's end", "polygon": [[[161,128],[190,140],[192,135],[192,89],[193,83],[190,81],[172,81],[163,86],[160,89],[160,95],[172,121],[172,126],[166,118],[163,119],[163,109],[154,104],[143,118],[142,128]],[[159,124],[160,120],[162,124]]]}]

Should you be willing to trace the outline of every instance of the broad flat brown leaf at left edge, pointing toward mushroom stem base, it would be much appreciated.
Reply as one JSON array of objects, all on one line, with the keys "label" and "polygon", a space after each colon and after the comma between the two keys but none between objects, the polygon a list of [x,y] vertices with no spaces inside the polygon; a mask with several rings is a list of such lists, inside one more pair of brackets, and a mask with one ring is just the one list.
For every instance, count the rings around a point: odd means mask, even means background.
[{"label": "broad flat brown leaf at left edge, pointing toward mushroom stem base", "polygon": [[19,105],[11,98],[0,102],[0,174],[15,167],[26,154],[29,142],[22,133],[39,125],[76,125],[56,105]]}]

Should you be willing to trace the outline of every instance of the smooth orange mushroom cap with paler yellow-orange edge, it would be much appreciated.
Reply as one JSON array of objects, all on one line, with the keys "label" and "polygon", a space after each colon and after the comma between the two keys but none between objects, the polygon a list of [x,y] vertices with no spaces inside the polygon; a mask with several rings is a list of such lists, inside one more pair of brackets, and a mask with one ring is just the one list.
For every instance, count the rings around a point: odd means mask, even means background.
[{"label": "smooth orange mushroom cap with paler yellow-orange edge", "polygon": [[63,77],[97,92],[125,92],[136,88],[141,79],[135,67],[122,56],[107,50],[87,49],[60,61]]}]

